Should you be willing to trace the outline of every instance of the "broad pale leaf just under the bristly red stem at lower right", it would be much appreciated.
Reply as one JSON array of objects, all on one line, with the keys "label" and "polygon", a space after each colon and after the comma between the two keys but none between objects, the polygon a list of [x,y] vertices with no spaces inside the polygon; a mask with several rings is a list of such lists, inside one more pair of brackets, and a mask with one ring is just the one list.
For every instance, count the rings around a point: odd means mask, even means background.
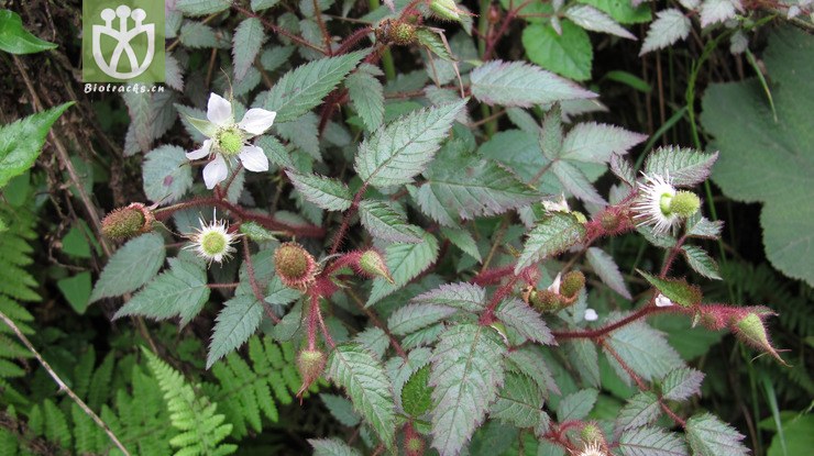
[{"label": "broad pale leaf just under the bristly red stem at lower right", "polygon": [[[684,367],[684,362],[667,343],[664,334],[642,321],[613,331],[606,338],[606,343],[607,347],[613,349],[636,375],[646,381],[662,378],[671,370]],[[629,385],[630,376],[615,357],[608,355],[608,360],[619,377]]]}]

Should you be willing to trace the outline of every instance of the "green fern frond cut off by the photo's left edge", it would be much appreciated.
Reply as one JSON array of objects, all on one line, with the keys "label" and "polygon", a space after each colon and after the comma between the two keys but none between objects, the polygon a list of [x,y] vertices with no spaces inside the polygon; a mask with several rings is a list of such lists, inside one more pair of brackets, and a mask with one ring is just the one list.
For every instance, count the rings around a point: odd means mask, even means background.
[{"label": "green fern frond cut off by the photo's left edge", "polygon": [[[36,238],[34,225],[36,216],[22,208],[12,208],[0,202],[0,219],[7,229],[0,232],[0,311],[8,315],[23,334],[34,330],[29,325],[34,316],[23,307],[23,302],[40,301],[36,280],[25,269],[33,263],[34,248],[31,241]],[[31,358],[31,353],[16,340],[11,329],[0,324],[0,391],[3,403],[25,404],[29,400],[16,391],[10,379],[20,378],[25,371],[14,359]]]}]

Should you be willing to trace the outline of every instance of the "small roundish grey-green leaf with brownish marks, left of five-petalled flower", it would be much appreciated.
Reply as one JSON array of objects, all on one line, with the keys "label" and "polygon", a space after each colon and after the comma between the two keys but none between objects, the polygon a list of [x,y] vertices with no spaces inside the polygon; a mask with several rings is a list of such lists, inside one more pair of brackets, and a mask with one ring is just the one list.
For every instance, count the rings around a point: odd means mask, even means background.
[{"label": "small roundish grey-green leaf with brownish marks, left of five-petalled flower", "polygon": [[151,201],[176,202],[193,187],[193,167],[186,152],[178,146],[164,145],[151,151],[142,166],[144,194]]}]

